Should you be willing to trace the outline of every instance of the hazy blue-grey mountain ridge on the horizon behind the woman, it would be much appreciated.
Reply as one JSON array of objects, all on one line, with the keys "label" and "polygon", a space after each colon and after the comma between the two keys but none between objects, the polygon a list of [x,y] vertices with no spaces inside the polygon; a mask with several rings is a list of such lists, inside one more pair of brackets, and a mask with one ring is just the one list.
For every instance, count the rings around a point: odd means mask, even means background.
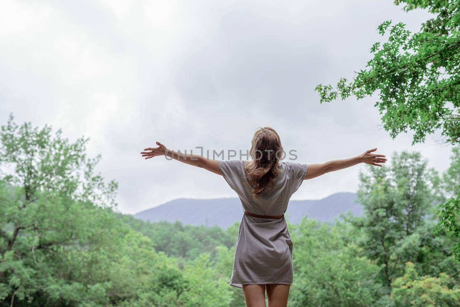
[{"label": "hazy blue-grey mountain ridge on the horizon behind the woman", "polygon": [[[291,200],[286,219],[298,224],[308,215],[322,222],[333,222],[339,214],[350,210],[355,216],[362,214],[362,206],[356,202],[356,194],[341,192],[317,200]],[[239,198],[174,199],[163,205],[134,214],[144,221],[180,221],[188,225],[219,226],[226,228],[242,220],[243,207]]]}]

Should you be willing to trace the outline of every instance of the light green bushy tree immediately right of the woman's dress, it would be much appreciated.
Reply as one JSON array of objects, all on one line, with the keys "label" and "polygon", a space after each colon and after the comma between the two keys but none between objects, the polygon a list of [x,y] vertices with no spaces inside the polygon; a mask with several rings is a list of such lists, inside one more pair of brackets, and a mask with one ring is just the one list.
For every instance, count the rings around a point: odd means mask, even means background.
[{"label": "light green bushy tree immediately right of the woman's dress", "polygon": [[289,226],[294,242],[289,306],[379,306],[385,294],[375,282],[380,267],[363,256],[354,239],[342,240],[339,233],[350,233],[349,227],[318,224],[307,217]]}]

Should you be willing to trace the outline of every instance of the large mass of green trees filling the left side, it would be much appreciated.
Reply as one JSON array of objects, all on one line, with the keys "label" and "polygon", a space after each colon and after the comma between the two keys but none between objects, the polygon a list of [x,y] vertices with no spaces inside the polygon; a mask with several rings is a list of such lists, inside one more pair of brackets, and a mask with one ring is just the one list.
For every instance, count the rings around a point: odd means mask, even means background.
[{"label": "large mass of green trees filling the left side", "polygon": [[193,279],[114,214],[87,140],[50,131],[1,129],[0,306],[187,306]]}]

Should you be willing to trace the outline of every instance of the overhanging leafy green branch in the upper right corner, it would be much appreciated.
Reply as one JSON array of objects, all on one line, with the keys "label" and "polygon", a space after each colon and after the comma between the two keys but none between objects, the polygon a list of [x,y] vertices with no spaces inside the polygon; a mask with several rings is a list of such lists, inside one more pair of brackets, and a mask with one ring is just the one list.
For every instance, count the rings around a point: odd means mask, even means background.
[{"label": "overhanging leafy green branch in the upper right corner", "polygon": [[322,102],[357,99],[378,93],[385,131],[392,138],[414,131],[412,145],[441,128],[446,142],[460,142],[460,0],[406,2],[404,10],[429,8],[436,18],[411,33],[404,23],[385,21],[379,33],[385,43],[372,45],[373,58],[353,80],[340,78],[336,87],[317,85]]}]

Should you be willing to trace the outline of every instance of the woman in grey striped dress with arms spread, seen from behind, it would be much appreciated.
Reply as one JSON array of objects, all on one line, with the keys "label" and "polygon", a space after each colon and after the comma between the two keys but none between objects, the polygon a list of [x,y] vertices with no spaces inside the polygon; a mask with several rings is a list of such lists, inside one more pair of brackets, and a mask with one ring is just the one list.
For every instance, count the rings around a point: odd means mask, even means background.
[{"label": "woman in grey striped dress with arms spread, seen from behind", "polygon": [[382,166],[385,155],[369,149],[350,159],[322,164],[281,162],[280,137],[270,127],[258,128],[249,151],[251,161],[212,160],[201,155],[174,153],[160,142],[145,148],[145,159],[166,155],[224,177],[242,201],[244,214],[235,247],[230,285],[243,289],[247,306],[287,306],[293,282],[292,250],[284,212],[302,182],[358,163]]}]

